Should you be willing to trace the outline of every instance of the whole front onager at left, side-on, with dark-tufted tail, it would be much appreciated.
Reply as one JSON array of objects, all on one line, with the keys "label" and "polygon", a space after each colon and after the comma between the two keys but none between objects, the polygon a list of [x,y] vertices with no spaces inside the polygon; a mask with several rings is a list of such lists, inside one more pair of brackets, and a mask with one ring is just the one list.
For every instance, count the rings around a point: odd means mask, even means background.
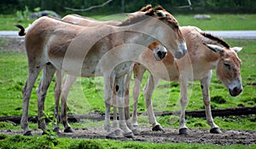
[{"label": "whole front onager at left, side-on, with dark-tufted tail", "polygon": [[[20,35],[25,35],[20,27]],[[109,112],[112,89],[116,89],[119,107],[119,128],[123,135],[132,132],[125,123],[125,83],[129,80],[131,61],[137,59],[148,44],[159,42],[181,58],[186,46],[176,20],[159,8],[128,18],[119,26],[76,26],[63,20],[41,17],[26,32],[26,54],[29,74],[23,92],[21,128],[24,135],[31,135],[28,128],[28,104],[32,87],[43,69],[38,94],[38,127],[45,130],[44,100],[55,69],[81,77],[104,77],[106,106],[104,128],[109,136],[115,136],[110,127]],[[113,87],[113,84],[115,86]]]}]

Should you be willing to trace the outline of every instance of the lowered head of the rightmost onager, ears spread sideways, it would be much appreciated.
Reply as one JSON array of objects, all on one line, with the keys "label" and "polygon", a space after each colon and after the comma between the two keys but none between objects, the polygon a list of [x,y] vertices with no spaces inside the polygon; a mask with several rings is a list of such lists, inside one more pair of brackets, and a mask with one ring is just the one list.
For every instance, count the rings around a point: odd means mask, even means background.
[{"label": "lowered head of the rightmost onager, ears spread sideways", "polygon": [[236,53],[241,51],[242,48],[222,48],[213,44],[206,45],[209,49],[212,49],[212,51],[217,52],[220,55],[216,67],[218,78],[224,83],[224,86],[229,89],[231,96],[240,95],[242,91],[240,73],[241,60]]}]

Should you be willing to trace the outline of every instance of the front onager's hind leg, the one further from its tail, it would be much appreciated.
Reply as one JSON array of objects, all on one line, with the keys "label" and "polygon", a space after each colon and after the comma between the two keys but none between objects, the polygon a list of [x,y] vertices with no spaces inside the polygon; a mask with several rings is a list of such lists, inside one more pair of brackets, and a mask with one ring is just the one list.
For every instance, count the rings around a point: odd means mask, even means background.
[{"label": "front onager's hind leg, the one further from its tail", "polygon": [[55,74],[55,67],[51,64],[44,66],[43,76],[41,77],[41,81],[39,83],[37,89],[38,95],[38,128],[39,129],[47,129],[45,121],[44,121],[44,100],[47,94],[47,89],[49,88],[49,83],[51,83],[52,78]]}]

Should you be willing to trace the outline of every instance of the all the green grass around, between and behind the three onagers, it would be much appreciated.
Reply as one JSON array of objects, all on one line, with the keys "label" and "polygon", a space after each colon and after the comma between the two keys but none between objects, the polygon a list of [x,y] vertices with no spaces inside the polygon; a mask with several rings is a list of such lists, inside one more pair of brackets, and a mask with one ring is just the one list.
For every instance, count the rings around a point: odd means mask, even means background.
[{"label": "all the green grass around, between and behind the three onagers", "polygon": [[[193,15],[175,15],[181,26],[199,26],[202,30],[256,30],[255,17],[256,14],[212,14],[212,20],[194,20]],[[93,16],[96,19],[101,19],[103,16]],[[107,17],[106,20],[111,19]],[[119,16],[122,20],[122,16]],[[224,23],[229,22],[229,23]],[[17,23],[13,19],[13,15],[0,15],[0,31],[1,30],[17,30],[13,24]],[[26,26],[29,21],[19,22]],[[230,26],[232,25],[232,26]],[[212,97],[212,108],[229,108],[237,106],[255,106],[256,104],[256,87],[252,84],[256,80],[255,72],[255,49],[256,40],[241,40],[227,39],[227,43],[231,46],[243,47],[243,50],[238,54],[242,60],[241,76],[244,90],[238,97],[231,97],[228,90],[218,81],[215,72],[212,75],[212,85],[210,87]],[[6,44],[0,40],[0,46]],[[22,94],[26,77],[27,77],[27,61],[26,54],[17,54],[10,51],[0,50],[0,116],[21,115],[22,112]],[[30,100],[29,115],[37,115],[37,95],[35,90],[38,86],[40,77],[38,77],[32,91]],[[143,78],[143,84],[147,80],[147,74]],[[45,113],[53,114],[54,112],[54,83],[50,84],[48,94],[45,100]],[[102,77],[96,78],[79,78],[74,83],[67,100],[69,114],[87,114],[88,112],[101,111],[104,112],[105,106],[103,103],[103,88]],[[131,81],[132,87],[132,81]],[[143,88],[143,86],[142,86]],[[131,93],[132,95],[132,93]],[[159,86],[154,91],[153,104],[154,111],[173,111],[179,110],[179,86],[178,83],[167,83],[160,81]],[[201,96],[201,88],[199,82],[192,82],[189,85],[189,105],[187,110],[203,109]],[[214,100],[218,99],[218,100]],[[132,100],[131,100],[132,102]],[[145,103],[143,94],[141,93],[138,112],[145,112]],[[148,117],[138,117],[138,123],[148,125]],[[167,128],[179,128],[178,117],[157,117],[159,123]],[[248,117],[214,117],[215,123],[221,129],[248,129],[256,130],[255,115]],[[84,123],[71,123],[73,128],[86,128],[90,126],[103,126],[103,122],[91,122],[86,120]],[[187,117],[187,126],[190,129],[209,129],[205,118]],[[62,126],[61,126],[62,127]],[[37,129],[37,123],[30,123],[30,128]],[[13,126],[10,123],[0,123],[0,129],[19,129],[19,126]],[[15,143],[13,143],[15,141]],[[42,144],[41,144],[42,143]],[[24,137],[20,135],[6,136],[0,135],[0,148],[75,148],[81,146],[94,146],[101,148],[245,148],[256,146],[215,146],[215,145],[200,145],[200,144],[154,144],[141,143],[119,140],[71,140],[66,138],[56,138],[55,136],[34,136]],[[22,148],[21,147],[21,148]]]}]

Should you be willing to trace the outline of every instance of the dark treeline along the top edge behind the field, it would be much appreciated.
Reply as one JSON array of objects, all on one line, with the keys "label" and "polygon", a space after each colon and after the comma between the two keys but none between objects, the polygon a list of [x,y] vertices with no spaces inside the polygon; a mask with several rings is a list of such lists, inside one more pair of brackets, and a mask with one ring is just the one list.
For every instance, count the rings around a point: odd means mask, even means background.
[{"label": "dark treeline along the top edge behind the field", "polygon": [[[18,10],[28,7],[30,11],[35,8],[40,10],[53,10],[58,14],[119,14],[134,12],[148,3],[153,6],[160,4],[172,14],[253,14],[256,13],[255,0],[112,0],[105,6],[85,12],[68,10],[87,9],[100,5],[108,0],[1,0],[0,14],[15,14]],[[65,9],[66,8],[66,9]]]}]

